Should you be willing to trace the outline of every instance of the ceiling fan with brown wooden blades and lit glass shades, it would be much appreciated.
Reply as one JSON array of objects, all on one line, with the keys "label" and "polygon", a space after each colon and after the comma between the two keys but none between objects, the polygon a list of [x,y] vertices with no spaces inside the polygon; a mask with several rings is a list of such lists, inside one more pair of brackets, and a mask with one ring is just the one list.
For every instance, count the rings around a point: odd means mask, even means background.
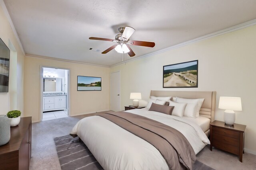
[{"label": "ceiling fan with brown wooden blades and lit glass shades", "polygon": [[130,36],[134,33],[135,29],[132,27],[120,27],[118,29],[120,34],[116,35],[115,39],[108,39],[108,38],[98,38],[98,37],[90,37],[89,39],[94,40],[102,40],[102,41],[112,41],[116,42],[117,44],[109,47],[105,51],[102,52],[102,54],[106,54],[112,49],[115,49],[118,53],[128,53],[130,57],[133,57],[135,53],[132,51],[131,47],[129,45],[138,45],[138,46],[144,46],[144,47],[154,47],[154,42],[147,42],[147,41],[134,41],[130,40]]}]

